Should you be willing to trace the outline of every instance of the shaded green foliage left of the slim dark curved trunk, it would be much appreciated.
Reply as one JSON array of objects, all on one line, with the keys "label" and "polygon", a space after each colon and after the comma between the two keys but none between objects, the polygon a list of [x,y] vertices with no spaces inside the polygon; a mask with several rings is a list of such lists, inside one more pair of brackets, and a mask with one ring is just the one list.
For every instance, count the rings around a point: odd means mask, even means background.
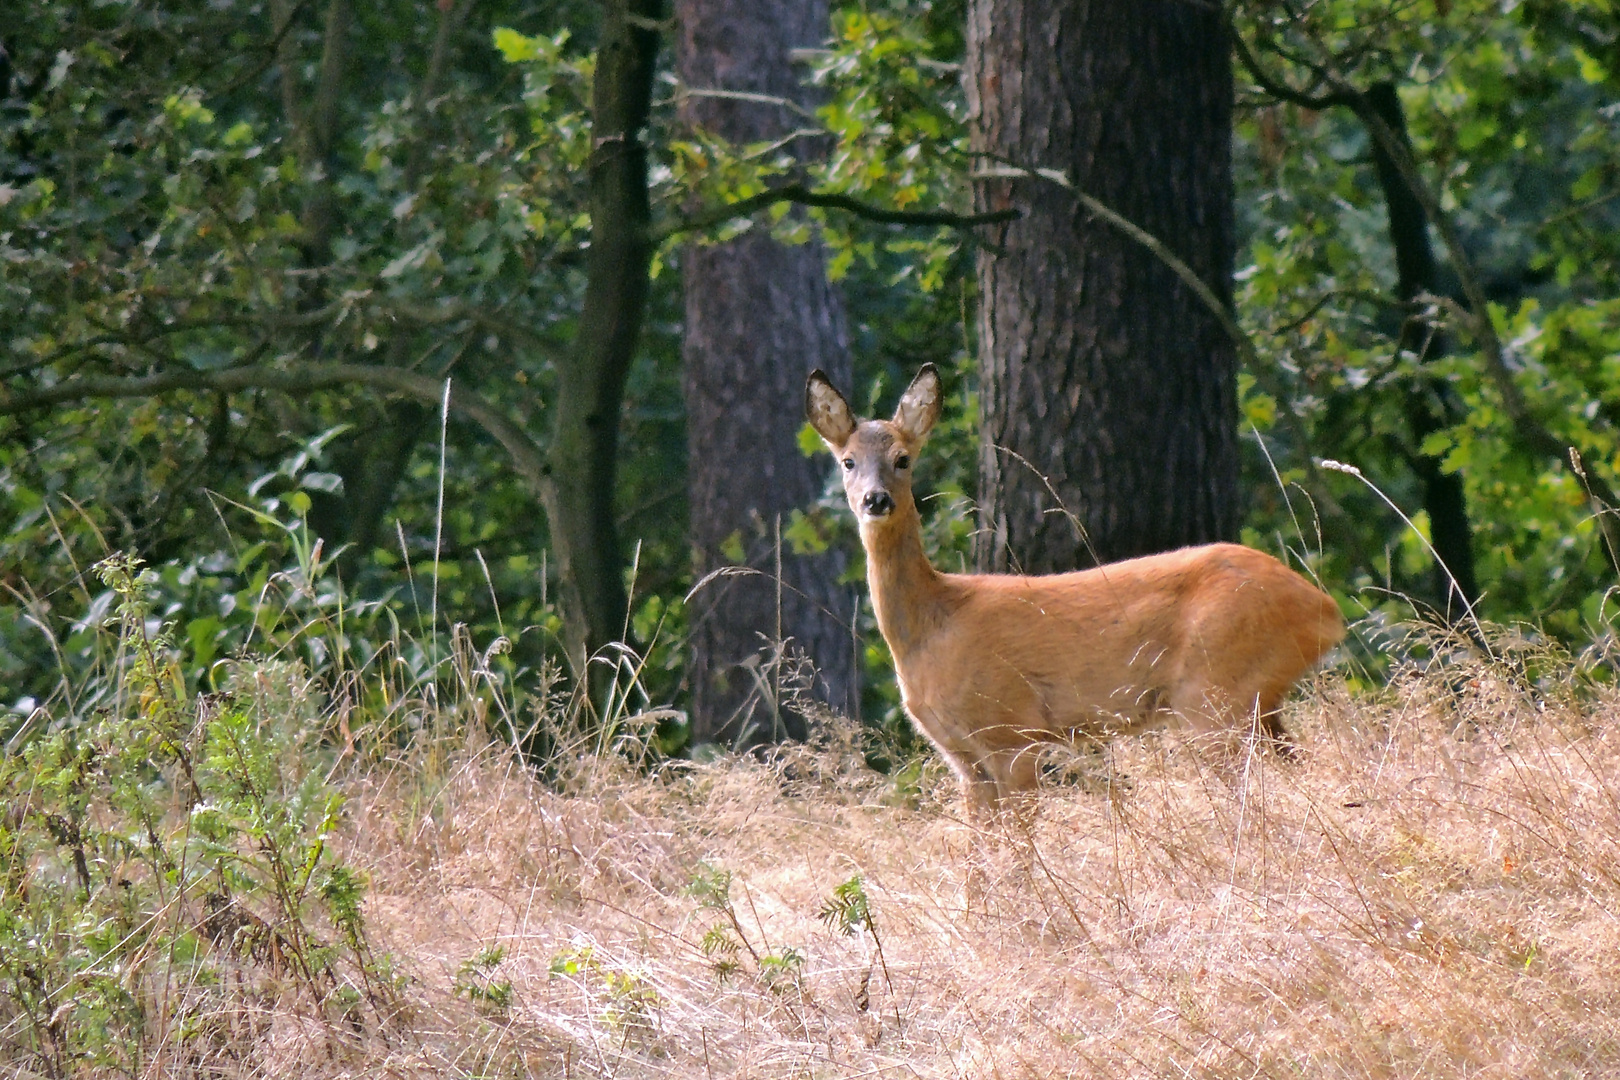
[{"label": "shaded green foliage left of the slim dark curved trunk", "polygon": [[[593,19],[575,6],[423,19],[384,5],[334,36],[309,5],[272,3],[267,21],[248,5],[60,0],[8,28],[0,397],[78,377],[292,381],[6,410],[0,565],[42,623],[0,630],[8,706],[58,682],[49,638],[92,599],[78,568],[138,551],[181,578],[177,617],[225,619],[217,594],[251,585],[238,538],[292,489],[350,594],[403,620],[454,610],[539,665],[561,625],[556,565],[492,439],[452,416],[441,468],[434,406],[298,379],[332,363],[420,372],[549,426],[582,288]],[[507,65],[491,42],[505,23],[556,44]],[[335,83],[318,63],[334,45]],[[627,440],[646,452],[620,471],[642,594],[666,599],[687,572],[671,285],[629,390]]]}]

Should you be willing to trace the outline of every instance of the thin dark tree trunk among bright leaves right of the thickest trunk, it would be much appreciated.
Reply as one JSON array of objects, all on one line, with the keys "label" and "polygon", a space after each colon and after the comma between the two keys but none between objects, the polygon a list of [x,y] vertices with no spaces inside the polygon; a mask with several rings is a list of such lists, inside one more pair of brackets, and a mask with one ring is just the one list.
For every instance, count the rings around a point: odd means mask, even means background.
[{"label": "thin dark tree trunk among bright leaves right of the thickest trunk", "polygon": [[[1406,139],[1406,115],[1393,83],[1375,83],[1367,89],[1367,105],[1388,126],[1403,146]],[[1383,204],[1390,212],[1390,241],[1395,244],[1395,295],[1411,300],[1419,293],[1439,293],[1440,275],[1429,243],[1429,215],[1388,152],[1372,139],[1372,162],[1383,189]],[[1401,327],[1400,347],[1427,363],[1450,351],[1448,342],[1432,334],[1427,325],[1408,321]],[[1448,620],[1463,619],[1469,606],[1479,599],[1474,580],[1474,531],[1468,521],[1468,504],[1463,494],[1463,478],[1447,473],[1437,457],[1422,452],[1422,440],[1432,432],[1458,423],[1461,405],[1452,387],[1440,379],[1419,377],[1406,395],[1406,423],[1413,431],[1413,471],[1422,484],[1422,505],[1429,512],[1429,534],[1440,562],[1434,568],[1434,593],[1440,601],[1440,614]]]}]

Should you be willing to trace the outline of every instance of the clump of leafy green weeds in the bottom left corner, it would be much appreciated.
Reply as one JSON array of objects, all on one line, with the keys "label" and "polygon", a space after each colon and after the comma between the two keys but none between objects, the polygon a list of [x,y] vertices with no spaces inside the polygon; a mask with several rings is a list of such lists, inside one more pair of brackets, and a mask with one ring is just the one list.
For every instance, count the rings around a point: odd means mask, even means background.
[{"label": "clump of leafy green weeds in the bottom left corner", "polygon": [[112,693],[84,722],[37,712],[0,763],[6,1059],[207,1067],[266,993],[376,1027],[395,986],[329,847],[343,798],[313,751],[316,687],[293,661],[227,661],[217,693],[190,693],[139,563],[96,572]]}]

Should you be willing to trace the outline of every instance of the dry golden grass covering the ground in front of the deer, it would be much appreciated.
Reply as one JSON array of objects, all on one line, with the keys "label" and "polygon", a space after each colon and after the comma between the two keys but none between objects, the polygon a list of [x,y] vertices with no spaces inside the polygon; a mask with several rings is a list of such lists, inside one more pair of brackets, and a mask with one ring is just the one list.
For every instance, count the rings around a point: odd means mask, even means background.
[{"label": "dry golden grass covering the ground in front of the deer", "polygon": [[[395,767],[353,784],[347,855],[405,1007],[342,1069],[1620,1075],[1617,719],[1486,669],[1374,704],[1325,675],[1294,763],[1126,740],[993,826],[943,769],[904,805],[838,730],[552,789],[494,750]],[[747,938],[727,976],[713,870]],[[855,874],[876,939],[818,918]]]}]

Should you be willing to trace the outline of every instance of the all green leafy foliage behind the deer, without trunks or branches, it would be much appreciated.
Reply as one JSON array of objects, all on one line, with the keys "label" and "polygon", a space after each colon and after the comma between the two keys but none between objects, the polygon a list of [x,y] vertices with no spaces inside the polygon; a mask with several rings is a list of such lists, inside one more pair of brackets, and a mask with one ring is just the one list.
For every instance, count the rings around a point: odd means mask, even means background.
[{"label": "all green leafy foliage behind the deer, without trunks or branches", "polygon": [[[424,19],[386,3],[355,13],[339,37],[326,5],[272,3],[269,19],[201,0],[162,11],[36,6],[37,18],[8,29],[15,71],[0,105],[0,400],[78,377],[350,363],[450,377],[544,442],[554,363],[583,287],[593,6],[501,0],[441,5]],[[1580,445],[1589,474],[1614,476],[1612,5],[1256,0],[1234,5],[1233,19],[1259,63],[1306,97],[1330,89],[1324,71],[1398,86],[1422,176],[1484,282],[1536,421]],[[334,42],[337,97],[322,74]],[[966,212],[962,8],[839,5],[826,47],[804,60],[821,94],[799,133],[815,136],[800,138],[813,154],[685,130],[684,87],[659,81],[663,246],[619,491],[624,533],[640,542],[630,625],[651,643],[620,670],[648,703],[682,693],[690,557],[676,343],[687,243],[771,228],[828,244],[849,306],[852,400],[865,411],[888,405],[922,361],[948,372],[946,421],[920,486],[935,495],[930,554],[951,568],[969,562],[972,267],[983,230],[786,204],[685,228],[695,210],[789,181],[878,207]],[[1238,84],[1236,303],[1256,356],[1241,382],[1244,536],[1290,549],[1349,610],[1388,622],[1408,610],[1403,597],[1434,599],[1429,552],[1371,489],[1315,461],[1356,465],[1422,529],[1411,465],[1442,455],[1466,484],[1481,614],[1533,620],[1571,644],[1605,638],[1614,568],[1594,507],[1567,460],[1526,445],[1477,342],[1447,308],[1468,267],[1442,251],[1447,296],[1396,303],[1362,123],[1343,107],[1278,100],[1241,66]],[[324,102],[335,105],[322,112]],[[1409,324],[1448,355],[1401,351]],[[1434,379],[1453,423],[1419,440],[1406,403]],[[152,567],[154,604],[191,646],[180,662],[193,693],[262,633],[253,620],[271,594],[322,628],[290,643],[311,674],[340,677],[399,640],[411,649],[390,661],[400,678],[442,677],[447,649],[434,643],[450,635],[434,620],[454,612],[478,640],[507,638],[510,651],[491,664],[531,685],[557,662],[548,523],[488,432],[455,416],[441,468],[436,413],[347,384],[180,387],[8,411],[0,588],[28,617],[0,628],[5,704],[16,717],[40,703],[68,703],[75,716],[100,704],[78,687],[102,662],[97,625],[113,601],[83,568],[118,549]],[[854,551],[839,504],[829,491],[805,507],[789,542]],[[342,588],[311,593],[316,576]],[[332,636],[322,620],[339,609],[358,623]],[[904,737],[870,622],[865,640],[865,719]],[[326,641],[339,644],[319,654]],[[679,745],[679,722],[664,725],[661,745]]]}]

